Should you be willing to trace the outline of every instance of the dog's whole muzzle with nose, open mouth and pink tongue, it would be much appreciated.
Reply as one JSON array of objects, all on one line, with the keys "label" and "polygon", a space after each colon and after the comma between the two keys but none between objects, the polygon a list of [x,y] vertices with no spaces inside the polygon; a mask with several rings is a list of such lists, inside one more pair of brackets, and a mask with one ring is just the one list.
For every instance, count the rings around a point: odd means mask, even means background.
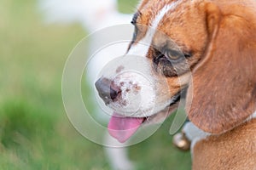
[{"label": "dog's whole muzzle with nose, open mouth and pink tongue", "polygon": [[[145,124],[162,123],[177,109],[177,103],[183,96],[184,85],[172,88],[166,77],[155,74],[151,67],[143,68],[145,65],[151,65],[148,59],[143,58],[141,62],[136,63],[134,61],[137,61],[137,58],[131,63],[136,66],[135,69],[125,67],[125,70],[117,75],[104,75],[95,83],[99,97],[113,110],[108,132],[120,143],[125,143]],[[137,68],[143,70],[137,71]]]}]

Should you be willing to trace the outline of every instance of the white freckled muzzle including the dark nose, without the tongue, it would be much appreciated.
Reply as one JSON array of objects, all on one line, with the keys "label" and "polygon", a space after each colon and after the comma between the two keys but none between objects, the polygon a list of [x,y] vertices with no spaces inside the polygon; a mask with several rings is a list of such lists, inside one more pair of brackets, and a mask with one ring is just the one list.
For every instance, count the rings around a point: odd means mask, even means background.
[{"label": "white freckled muzzle including the dark nose, without the tongue", "polygon": [[172,98],[166,77],[156,74],[150,59],[140,56],[113,59],[95,85],[100,99],[120,116],[154,115],[170,105]]}]

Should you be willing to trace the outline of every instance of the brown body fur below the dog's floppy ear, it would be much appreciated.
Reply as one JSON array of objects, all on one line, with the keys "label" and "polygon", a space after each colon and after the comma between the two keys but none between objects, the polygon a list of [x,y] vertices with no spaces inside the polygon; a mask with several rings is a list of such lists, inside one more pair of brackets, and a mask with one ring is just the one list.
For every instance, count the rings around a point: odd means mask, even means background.
[{"label": "brown body fur below the dog's floppy ear", "polygon": [[255,170],[256,119],[195,144],[195,170]]}]

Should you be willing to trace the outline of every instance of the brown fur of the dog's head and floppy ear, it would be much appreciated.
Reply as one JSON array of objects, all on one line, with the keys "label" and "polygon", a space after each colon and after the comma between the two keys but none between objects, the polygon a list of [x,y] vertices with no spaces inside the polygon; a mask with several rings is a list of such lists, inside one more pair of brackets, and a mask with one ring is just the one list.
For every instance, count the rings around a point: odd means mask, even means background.
[{"label": "brown fur of the dog's head and floppy ear", "polygon": [[[150,26],[160,8],[172,2],[144,1],[137,23]],[[161,33],[155,34],[153,45],[162,43],[160,35],[166,35],[181,51],[193,54],[187,59],[192,71],[191,81],[186,82],[189,119],[206,132],[224,133],[256,108],[256,4],[253,0],[177,2],[177,8],[161,20]],[[150,50],[148,58],[154,58]],[[177,70],[185,66],[177,65]],[[183,87],[177,78],[168,80],[171,92]]]}]

